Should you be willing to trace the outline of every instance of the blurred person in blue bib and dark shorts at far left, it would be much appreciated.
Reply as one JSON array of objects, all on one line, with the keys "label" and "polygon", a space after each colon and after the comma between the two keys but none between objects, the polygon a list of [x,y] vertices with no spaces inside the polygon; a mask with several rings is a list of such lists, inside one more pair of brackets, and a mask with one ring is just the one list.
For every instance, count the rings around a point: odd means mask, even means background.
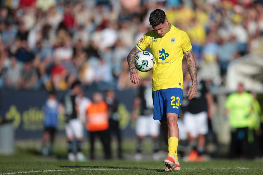
[{"label": "blurred person in blue bib and dark shorts at far left", "polygon": [[[56,130],[58,126],[58,107],[59,103],[56,98],[54,91],[50,91],[48,99],[46,100],[43,111],[44,111],[44,133],[42,137],[42,155],[52,155],[55,141]],[[47,147],[47,143],[49,147]]]}]

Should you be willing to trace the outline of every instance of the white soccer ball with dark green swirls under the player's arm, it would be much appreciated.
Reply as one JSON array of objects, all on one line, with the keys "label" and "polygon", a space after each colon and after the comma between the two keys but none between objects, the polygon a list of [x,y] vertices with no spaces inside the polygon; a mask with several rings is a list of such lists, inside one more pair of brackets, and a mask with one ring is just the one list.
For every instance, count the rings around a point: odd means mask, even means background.
[{"label": "white soccer ball with dark green swirls under the player's arm", "polygon": [[150,52],[142,51],[134,57],[136,69],[141,72],[147,72],[153,69],[154,57]]}]

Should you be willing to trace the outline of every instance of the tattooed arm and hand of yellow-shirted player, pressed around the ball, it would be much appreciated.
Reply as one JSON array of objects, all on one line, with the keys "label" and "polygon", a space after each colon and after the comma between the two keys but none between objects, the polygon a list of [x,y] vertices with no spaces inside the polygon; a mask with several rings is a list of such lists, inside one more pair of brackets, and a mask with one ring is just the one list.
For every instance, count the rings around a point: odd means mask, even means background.
[{"label": "tattooed arm and hand of yellow-shirted player, pressed around the ball", "polygon": [[135,85],[139,83],[139,80],[141,80],[135,64],[134,64],[134,57],[137,53],[139,53],[140,50],[136,48],[136,46],[131,50],[131,52],[129,53],[128,57],[127,57],[127,61],[130,67],[130,79],[131,82],[134,83]]}]

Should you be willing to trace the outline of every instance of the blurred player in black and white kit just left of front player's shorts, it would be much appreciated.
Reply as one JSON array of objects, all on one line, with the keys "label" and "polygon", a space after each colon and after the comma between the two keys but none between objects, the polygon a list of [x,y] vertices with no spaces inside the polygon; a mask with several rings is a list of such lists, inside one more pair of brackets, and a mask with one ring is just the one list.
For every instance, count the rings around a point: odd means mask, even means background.
[{"label": "blurred player in black and white kit just left of front player's shorts", "polygon": [[148,135],[153,139],[153,159],[159,159],[158,137],[160,132],[160,122],[158,120],[153,120],[153,99],[150,80],[151,79],[141,80],[137,96],[134,99],[132,119],[136,120],[137,135],[135,160],[142,159],[142,141],[144,137]]}]

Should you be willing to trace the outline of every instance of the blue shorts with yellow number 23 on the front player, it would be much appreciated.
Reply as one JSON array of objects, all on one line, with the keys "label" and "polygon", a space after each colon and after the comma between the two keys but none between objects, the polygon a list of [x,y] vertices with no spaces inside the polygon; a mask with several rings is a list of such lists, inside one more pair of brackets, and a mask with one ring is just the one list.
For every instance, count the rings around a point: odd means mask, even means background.
[{"label": "blue shorts with yellow number 23 on the front player", "polygon": [[180,112],[183,90],[181,88],[168,88],[153,91],[153,119],[166,120],[166,113]]}]

